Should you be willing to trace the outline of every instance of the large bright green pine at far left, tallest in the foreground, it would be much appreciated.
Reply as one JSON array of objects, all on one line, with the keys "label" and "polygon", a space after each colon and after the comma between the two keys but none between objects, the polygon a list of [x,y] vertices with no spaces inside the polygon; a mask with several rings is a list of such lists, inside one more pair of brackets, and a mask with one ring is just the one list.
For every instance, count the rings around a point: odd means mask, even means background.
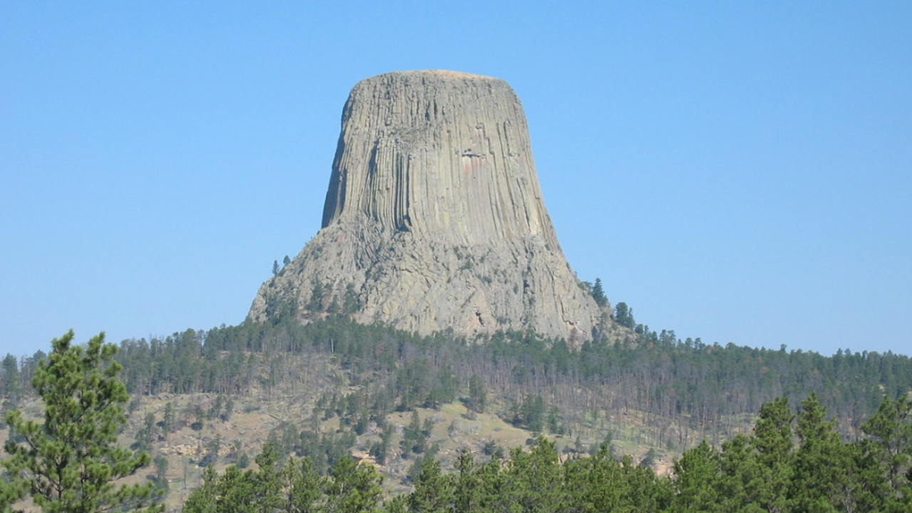
[{"label": "large bright green pine at far left, tallest in the foreground", "polygon": [[104,333],[86,346],[72,341],[72,330],[54,340],[54,351],[32,378],[45,404],[44,422],[28,421],[20,411],[6,416],[16,434],[5,445],[10,458],[2,463],[12,486],[25,483],[35,505],[47,513],[161,511],[150,506],[153,484],[114,485],[149,463],[149,455],[117,445],[130,400],[113,360],[117,346],[106,344]]}]

